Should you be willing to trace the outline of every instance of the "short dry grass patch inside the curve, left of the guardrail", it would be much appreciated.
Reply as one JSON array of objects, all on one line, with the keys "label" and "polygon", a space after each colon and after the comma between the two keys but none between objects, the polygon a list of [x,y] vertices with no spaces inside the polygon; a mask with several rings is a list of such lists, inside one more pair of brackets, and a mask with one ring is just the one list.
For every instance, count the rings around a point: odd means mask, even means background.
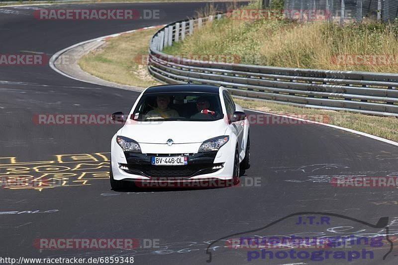
[{"label": "short dry grass patch inside the curve, left of the guardrail", "polygon": [[105,45],[83,56],[79,65],[103,80],[134,87],[159,85],[149,75],[146,65],[140,63],[141,56],[148,54],[149,39],[157,30],[139,30],[110,38]]}]

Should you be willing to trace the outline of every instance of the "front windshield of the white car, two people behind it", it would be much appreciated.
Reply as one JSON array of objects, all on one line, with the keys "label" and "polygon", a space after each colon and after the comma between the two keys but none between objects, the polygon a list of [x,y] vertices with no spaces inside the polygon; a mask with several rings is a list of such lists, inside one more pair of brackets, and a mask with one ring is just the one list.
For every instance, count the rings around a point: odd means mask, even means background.
[{"label": "front windshield of the white car, two people behind it", "polygon": [[136,121],[214,121],[221,118],[219,95],[197,92],[144,94],[130,116]]}]

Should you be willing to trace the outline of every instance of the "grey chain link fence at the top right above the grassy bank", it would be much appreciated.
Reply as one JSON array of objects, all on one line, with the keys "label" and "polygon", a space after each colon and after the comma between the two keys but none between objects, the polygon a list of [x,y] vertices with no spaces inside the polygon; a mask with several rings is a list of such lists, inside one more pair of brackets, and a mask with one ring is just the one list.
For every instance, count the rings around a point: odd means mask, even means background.
[{"label": "grey chain link fence at the top right above the grassy bank", "polygon": [[331,19],[341,23],[365,17],[387,22],[398,17],[398,0],[285,0],[284,8],[328,10]]}]

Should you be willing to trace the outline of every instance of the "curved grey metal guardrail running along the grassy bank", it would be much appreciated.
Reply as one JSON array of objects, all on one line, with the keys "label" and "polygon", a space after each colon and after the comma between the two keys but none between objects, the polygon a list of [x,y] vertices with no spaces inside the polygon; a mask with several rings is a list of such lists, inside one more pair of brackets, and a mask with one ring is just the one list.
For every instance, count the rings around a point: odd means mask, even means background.
[{"label": "curved grey metal guardrail running along the grassy bank", "polygon": [[398,74],[185,60],[161,51],[223,14],[171,23],[152,36],[148,70],[169,84],[209,84],[245,98],[398,117]]}]

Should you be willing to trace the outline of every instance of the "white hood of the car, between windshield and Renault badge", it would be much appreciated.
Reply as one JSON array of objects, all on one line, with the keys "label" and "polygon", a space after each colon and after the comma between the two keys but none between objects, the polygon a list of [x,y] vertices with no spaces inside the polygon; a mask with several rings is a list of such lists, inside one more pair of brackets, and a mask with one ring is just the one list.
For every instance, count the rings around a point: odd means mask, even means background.
[{"label": "white hood of the car, between windshield and Renault badge", "polygon": [[172,139],[175,144],[202,143],[224,135],[226,123],[215,121],[153,121],[126,123],[121,135],[138,143],[165,144]]}]

